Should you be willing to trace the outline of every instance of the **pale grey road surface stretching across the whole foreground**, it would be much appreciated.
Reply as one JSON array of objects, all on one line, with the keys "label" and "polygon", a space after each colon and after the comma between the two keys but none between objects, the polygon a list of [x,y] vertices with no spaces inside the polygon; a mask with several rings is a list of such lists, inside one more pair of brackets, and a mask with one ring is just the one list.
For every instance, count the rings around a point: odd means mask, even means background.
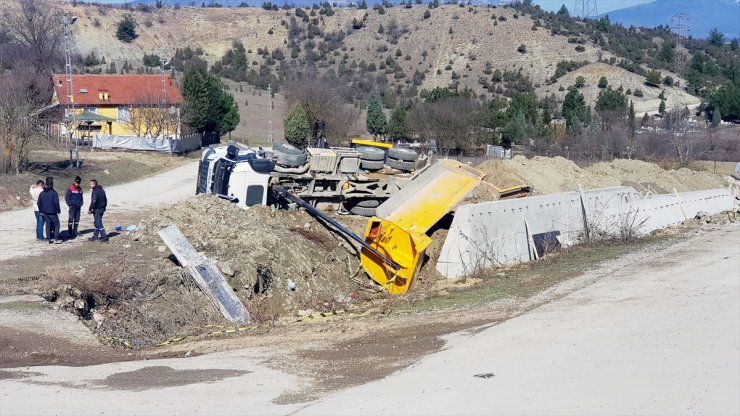
[{"label": "pale grey road surface stretching across the whole foreground", "polygon": [[516,318],[453,334],[445,350],[405,370],[314,402],[275,404],[314,380],[270,366],[286,352],[264,346],[2,370],[0,414],[740,412],[740,225],[634,259],[575,292],[581,286],[564,282],[570,294]]}]

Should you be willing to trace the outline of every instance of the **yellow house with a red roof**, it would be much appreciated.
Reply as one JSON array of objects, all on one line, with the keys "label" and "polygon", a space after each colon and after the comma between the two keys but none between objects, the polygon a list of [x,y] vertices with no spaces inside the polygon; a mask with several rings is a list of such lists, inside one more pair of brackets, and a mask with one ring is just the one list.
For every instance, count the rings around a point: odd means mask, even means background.
[{"label": "yellow house with a red roof", "polygon": [[[168,75],[52,75],[53,103],[68,108],[65,125],[80,136],[179,137],[182,94]],[[76,133],[76,134],[77,134]]]}]

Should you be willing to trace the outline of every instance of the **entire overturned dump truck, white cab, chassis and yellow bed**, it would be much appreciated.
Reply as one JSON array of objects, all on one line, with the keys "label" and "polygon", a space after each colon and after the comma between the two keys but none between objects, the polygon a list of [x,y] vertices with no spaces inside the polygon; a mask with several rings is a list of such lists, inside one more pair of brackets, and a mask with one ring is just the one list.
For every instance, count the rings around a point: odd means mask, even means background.
[{"label": "entire overturned dump truck, white cab, chassis and yellow bed", "polygon": [[[297,149],[296,149],[297,150]],[[329,150],[329,151],[327,151]],[[406,149],[404,149],[406,150]],[[307,149],[287,164],[284,156],[235,145],[204,150],[198,193],[216,194],[249,207],[257,204],[305,208],[324,224],[362,246],[360,262],[368,276],[390,293],[406,293],[432,243],[428,232],[468,196],[485,174],[461,162],[442,159],[413,174],[371,176],[359,168],[352,149]],[[420,162],[421,163],[421,162]],[[496,188],[499,199],[528,196],[530,188]],[[371,201],[369,203],[368,201]],[[346,229],[324,210],[347,209],[372,216],[364,236]]]}]

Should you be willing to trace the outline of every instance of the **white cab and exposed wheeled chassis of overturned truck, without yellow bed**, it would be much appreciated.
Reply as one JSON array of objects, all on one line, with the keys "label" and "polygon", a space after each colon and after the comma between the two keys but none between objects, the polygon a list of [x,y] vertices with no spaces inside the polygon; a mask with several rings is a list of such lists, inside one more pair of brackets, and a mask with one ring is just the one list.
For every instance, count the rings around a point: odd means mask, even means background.
[{"label": "white cab and exposed wheeled chassis of overturned truck, without yellow bed", "polygon": [[278,143],[272,149],[219,145],[203,150],[196,193],[243,207],[271,205],[281,186],[325,211],[372,216],[375,209],[427,166],[410,149],[308,148]]}]

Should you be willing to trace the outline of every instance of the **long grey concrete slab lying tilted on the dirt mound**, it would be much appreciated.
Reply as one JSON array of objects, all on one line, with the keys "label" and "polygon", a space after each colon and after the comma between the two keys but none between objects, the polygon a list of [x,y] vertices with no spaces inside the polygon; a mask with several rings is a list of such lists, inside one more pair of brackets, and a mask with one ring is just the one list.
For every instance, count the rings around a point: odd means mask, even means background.
[{"label": "long grey concrete slab lying tilted on the dirt mound", "polygon": [[234,290],[218,271],[213,261],[198,254],[176,225],[159,230],[159,237],[169,247],[182,267],[188,269],[200,290],[208,295],[224,318],[238,325],[247,325],[251,321],[249,312],[236,297]]}]

